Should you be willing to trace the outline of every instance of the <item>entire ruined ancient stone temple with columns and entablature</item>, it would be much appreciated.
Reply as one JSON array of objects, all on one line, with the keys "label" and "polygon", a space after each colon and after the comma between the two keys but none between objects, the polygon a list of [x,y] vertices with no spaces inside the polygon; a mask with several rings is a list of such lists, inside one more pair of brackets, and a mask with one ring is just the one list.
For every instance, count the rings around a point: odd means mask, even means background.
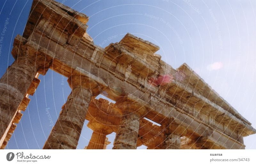
[{"label": "entire ruined ancient stone temple with columns and entablature", "polygon": [[43,149],[76,149],[84,120],[93,130],[86,149],[106,149],[112,132],[113,149],[244,149],[243,137],[256,133],[187,64],[172,68],[158,46],[129,33],[101,48],[87,21],[55,1],[33,1],[13,43],[15,61],[0,80],[1,149],[49,68],[68,78],[72,92]]}]

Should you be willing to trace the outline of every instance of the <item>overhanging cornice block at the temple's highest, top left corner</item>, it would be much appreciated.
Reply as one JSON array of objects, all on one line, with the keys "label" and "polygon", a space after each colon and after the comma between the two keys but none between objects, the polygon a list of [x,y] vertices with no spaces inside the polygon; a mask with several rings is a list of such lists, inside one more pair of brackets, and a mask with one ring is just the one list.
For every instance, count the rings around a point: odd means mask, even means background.
[{"label": "overhanging cornice block at the temple's highest, top left corner", "polygon": [[28,22],[23,36],[28,36],[34,31],[34,28],[40,20],[45,19],[47,22],[53,22],[58,28],[67,31],[69,34],[82,36],[87,28],[88,17],[82,13],[76,12],[69,7],[50,0],[34,0],[32,10],[28,18]]}]

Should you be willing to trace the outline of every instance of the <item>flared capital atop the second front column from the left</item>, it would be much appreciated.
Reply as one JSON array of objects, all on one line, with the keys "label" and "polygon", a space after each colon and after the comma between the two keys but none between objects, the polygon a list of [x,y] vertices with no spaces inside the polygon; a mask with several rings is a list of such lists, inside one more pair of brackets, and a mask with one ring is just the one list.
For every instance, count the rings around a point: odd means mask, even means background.
[{"label": "flared capital atop the second front column from the left", "polygon": [[92,96],[97,96],[108,86],[100,77],[92,75],[80,67],[76,67],[72,71],[68,78],[68,84],[71,89],[77,86],[88,89],[91,91]]}]

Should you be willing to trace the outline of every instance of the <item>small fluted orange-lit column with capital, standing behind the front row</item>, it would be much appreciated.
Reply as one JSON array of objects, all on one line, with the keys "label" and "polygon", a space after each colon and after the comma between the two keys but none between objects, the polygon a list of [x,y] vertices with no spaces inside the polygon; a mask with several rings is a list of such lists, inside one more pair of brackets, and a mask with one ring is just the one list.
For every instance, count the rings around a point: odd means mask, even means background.
[{"label": "small fluted orange-lit column with capital, standing behind the front row", "polygon": [[87,126],[93,130],[93,133],[86,149],[104,149],[106,136],[111,134],[113,129],[96,120],[92,120],[92,122],[90,121]]}]

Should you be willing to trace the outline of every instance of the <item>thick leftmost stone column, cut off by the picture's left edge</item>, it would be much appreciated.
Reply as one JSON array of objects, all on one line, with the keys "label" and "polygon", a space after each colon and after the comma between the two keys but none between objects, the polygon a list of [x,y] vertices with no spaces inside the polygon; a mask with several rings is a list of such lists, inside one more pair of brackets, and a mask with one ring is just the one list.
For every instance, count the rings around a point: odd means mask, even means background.
[{"label": "thick leftmost stone column, cut off by the picture's left edge", "polygon": [[41,54],[36,57],[29,47],[20,54],[0,79],[0,146],[36,73],[44,68],[44,57]]}]

